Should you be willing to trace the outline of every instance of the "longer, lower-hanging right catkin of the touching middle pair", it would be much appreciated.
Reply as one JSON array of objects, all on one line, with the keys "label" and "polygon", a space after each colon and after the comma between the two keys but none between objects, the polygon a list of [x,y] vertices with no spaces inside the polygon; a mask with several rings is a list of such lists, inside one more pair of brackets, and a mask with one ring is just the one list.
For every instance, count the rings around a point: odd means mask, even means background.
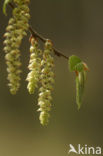
[{"label": "longer, lower-hanging right catkin of the touching middle pair", "polygon": [[53,49],[52,43],[50,40],[45,42],[45,49],[43,52],[43,60],[41,62],[42,70],[41,70],[41,88],[39,89],[39,98],[38,105],[40,111],[40,122],[42,125],[47,125],[49,121],[49,111],[51,109],[51,100],[52,95],[51,92],[53,90],[54,84],[54,59],[52,57]]}]

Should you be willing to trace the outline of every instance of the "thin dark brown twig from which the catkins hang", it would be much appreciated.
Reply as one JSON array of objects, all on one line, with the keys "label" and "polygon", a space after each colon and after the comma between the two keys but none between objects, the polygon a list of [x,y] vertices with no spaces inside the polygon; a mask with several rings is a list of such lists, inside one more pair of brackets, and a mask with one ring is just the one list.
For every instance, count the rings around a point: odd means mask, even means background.
[{"label": "thin dark brown twig from which the catkins hang", "polygon": [[[12,8],[12,9],[14,9],[14,5],[12,4],[12,3],[9,3],[9,5],[10,5],[10,7]],[[34,36],[34,37],[37,37],[38,39],[40,39],[42,42],[45,42],[46,41],[46,38],[44,38],[42,35],[40,35],[38,32],[36,32],[33,28],[32,28],[32,26],[31,25],[29,25],[29,31],[30,31],[30,33],[32,34],[32,36]],[[55,55],[57,55],[57,56],[61,56],[61,57],[63,57],[63,58],[65,58],[65,59],[69,59],[69,57],[67,57],[67,56],[65,56],[62,52],[60,52],[59,50],[57,50],[55,47],[53,47],[53,50],[54,50],[54,53],[55,53]]]}]

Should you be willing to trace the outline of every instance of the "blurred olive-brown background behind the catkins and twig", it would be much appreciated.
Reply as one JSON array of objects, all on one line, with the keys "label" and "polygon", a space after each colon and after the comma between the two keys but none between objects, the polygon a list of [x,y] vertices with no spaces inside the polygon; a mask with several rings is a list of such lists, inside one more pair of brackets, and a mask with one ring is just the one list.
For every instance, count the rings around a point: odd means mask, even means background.
[{"label": "blurred olive-brown background behind the catkins and twig", "polygon": [[38,120],[37,91],[29,95],[29,33],[21,46],[22,83],[16,96],[9,93],[3,52],[8,17],[0,1],[0,155],[67,156],[69,144],[103,145],[103,0],[31,0],[32,26],[65,55],[82,58],[89,66],[84,102],[77,110],[75,74],[68,62],[55,56],[56,83],[50,123]]}]

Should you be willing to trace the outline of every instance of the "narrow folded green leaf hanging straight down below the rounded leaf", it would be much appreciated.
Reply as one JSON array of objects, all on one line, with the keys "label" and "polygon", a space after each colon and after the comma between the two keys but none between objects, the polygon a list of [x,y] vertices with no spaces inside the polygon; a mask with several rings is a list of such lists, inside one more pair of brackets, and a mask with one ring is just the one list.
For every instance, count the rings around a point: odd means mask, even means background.
[{"label": "narrow folded green leaf hanging straight down below the rounded leaf", "polygon": [[79,72],[78,76],[76,76],[76,103],[78,109],[80,109],[82,104],[86,76],[87,76],[86,71]]}]

